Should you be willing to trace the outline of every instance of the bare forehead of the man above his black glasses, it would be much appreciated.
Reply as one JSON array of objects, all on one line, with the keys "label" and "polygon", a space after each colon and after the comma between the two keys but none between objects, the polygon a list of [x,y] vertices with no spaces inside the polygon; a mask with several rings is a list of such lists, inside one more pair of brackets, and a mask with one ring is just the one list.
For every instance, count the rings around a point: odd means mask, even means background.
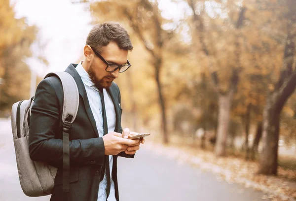
[{"label": "bare forehead of the man above his black glasses", "polygon": [[116,64],[125,64],[127,61],[128,51],[120,49],[115,42],[110,42],[107,46],[102,48],[102,57],[107,62],[114,62]]}]

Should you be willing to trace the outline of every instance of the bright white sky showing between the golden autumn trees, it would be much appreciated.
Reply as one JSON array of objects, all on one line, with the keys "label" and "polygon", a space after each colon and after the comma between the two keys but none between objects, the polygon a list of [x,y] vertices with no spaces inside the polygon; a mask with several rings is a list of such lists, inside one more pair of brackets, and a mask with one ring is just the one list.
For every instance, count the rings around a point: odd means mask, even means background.
[{"label": "bright white sky showing between the golden autumn trees", "polygon": [[[11,0],[16,18],[26,17],[29,25],[39,28],[38,37],[46,43],[43,55],[49,65],[45,67],[37,59],[26,62],[39,76],[51,71],[64,71],[70,63],[77,63],[83,55],[88,32],[92,28],[90,12],[85,4],[71,3],[71,0]],[[159,0],[159,8],[166,18],[178,21],[185,5]],[[35,45],[36,46],[36,45]],[[32,50],[36,50],[34,45]],[[35,52],[36,53],[36,52]]]}]

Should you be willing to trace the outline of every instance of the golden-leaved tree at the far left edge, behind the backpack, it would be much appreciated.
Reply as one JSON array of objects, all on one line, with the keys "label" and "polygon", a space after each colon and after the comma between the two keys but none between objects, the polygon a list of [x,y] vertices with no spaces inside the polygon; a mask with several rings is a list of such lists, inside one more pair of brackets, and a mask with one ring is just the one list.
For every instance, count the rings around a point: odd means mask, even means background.
[{"label": "golden-leaved tree at the far left edge, behind the backpack", "polygon": [[10,110],[13,102],[29,98],[30,69],[25,59],[32,56],[37,28],[24,18],[16,19],[9,0],[1,0],[0,32],[0,110]]}]

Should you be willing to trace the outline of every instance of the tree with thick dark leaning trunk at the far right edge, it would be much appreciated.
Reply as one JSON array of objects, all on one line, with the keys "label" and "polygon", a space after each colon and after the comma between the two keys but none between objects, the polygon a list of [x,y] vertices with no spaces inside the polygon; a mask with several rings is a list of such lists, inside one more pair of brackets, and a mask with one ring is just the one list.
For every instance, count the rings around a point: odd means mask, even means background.
[{"label": "tree with thick dark leaning trunk at the far right edge", "polygon": [[[266,105],[263,111],[262,152],[259,160],[259,173],[277,174],[278,140],[282,109],[296,88],[295,40],[296,40],[296,2],[294,0],[262,2],[261,9],[281,12],[281,24],[278,31],[284,30],[285,40],[283,60],[277,82],[271,83]],[[276,13],[277,14],[277,13]],[[272,27],[274,24],[269,24]],[[274,27],[273,27],[274,28]],[[272,33],[271,33],[272,34]]]}]

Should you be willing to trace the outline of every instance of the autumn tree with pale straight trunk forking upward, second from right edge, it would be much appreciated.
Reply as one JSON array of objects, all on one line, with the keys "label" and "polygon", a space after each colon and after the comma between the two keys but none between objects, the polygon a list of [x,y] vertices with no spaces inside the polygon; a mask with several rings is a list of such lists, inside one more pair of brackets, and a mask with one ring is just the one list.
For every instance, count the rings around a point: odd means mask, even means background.
[{"label": "autumn tree with pale straight trunk forking upward, second from right edge", "polygon": [[[195,43],[195,45],[205,55],[214,88],[218,93],[219,115],[217,142],[215,145],[217,156],[224,156],[226,154],[225,147],[231,103],[241,70],[240,29],[243,27],[246,8],[237,7],[234,3],[231,4],[231,2],[233,1],[227,1],[224,4],[213,2],[213,7],[209,11],[206,9],[204,1],[188,0],[188,5],[193,13],[193,33],[198,38],[198,43]],[[219,8],[222,8],[222,13],[217,12],[215,7],[217,4],[219,4]],[[208,28],[205,25],[205,20],[210,22]],[[229,31],[225,32],[223,28]],[[232,37],[229,37],[230,35]],[[231,48],[229,48],[230,46]],[[197,51],[197,54],[200,54],[200,51]],[[230,61],[227,57],[231,58]],[[222,70],[222,68],[227,70]]]}]

